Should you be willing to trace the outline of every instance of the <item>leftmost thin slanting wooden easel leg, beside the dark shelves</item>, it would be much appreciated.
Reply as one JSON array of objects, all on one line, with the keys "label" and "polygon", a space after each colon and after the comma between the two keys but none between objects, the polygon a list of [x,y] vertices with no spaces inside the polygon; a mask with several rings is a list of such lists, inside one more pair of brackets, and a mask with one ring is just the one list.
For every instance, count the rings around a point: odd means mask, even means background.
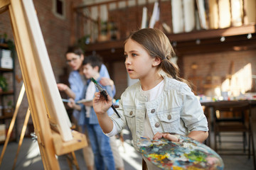
[{"label": "leftmost thin slanting wooden easel leg, beside the dark shelves", "polygon": [[15,120],[16,120],[16,117],[17,117],[18,109],[21,106],[21,101],[23,99],[24,93],[25,93],[25,87],[24,87],[24,84],[23,84],[22,87],[21,87],[20,94],[18,95],[18,101],[16,103],[16,108],[15,108],[15,111],[14,111],[14,115],[13,115],[13,118],[11,118],[11,123],[10,123],[10,126],[9,126],[9,130],[7,132],[6,141],[4,142],[4,147],[3,147],[3,150],[1,152],[0,166],[1,166],[2,159],[4,157],[4,152],[6,151],[6,147],[8,145],[9,140],[10,140],[11,132],[14,129],[14,123],[15,123]]}]

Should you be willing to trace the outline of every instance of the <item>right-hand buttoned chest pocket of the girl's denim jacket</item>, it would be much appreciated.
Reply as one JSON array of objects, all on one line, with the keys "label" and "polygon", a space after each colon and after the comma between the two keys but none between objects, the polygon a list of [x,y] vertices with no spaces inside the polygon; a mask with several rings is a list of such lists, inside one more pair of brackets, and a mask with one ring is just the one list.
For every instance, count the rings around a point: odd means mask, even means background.
[{"label": "right-hand buttoned chest pocket of the girl's denim jacket", "polygon": [[180,126],[181,107],[170,108],[167,111],[158,112],[158,118],[161,122],[164,132],[177,132]]}]

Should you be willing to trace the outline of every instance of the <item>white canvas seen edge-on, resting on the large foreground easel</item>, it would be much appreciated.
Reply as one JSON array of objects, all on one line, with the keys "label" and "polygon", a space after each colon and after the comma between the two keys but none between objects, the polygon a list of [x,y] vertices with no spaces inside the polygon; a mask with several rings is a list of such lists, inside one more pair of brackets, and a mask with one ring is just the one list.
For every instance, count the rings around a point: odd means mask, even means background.
[{"label": "white canvas seen edge-on, resting on the large foreground easel", "polygon": [[[49,111],[49,119],[55,125],[60,126],[58,130],[60,131],[64,141],[72,140],[73,137],[70,130],[71,123],[65,110],[65,106],[61,100],[58,87],[56,86],[57,83],[54,78],[53,69],[50,65],[48,52],[43,41],[43,35],[38,23],[33,1],[23,0],[23,6],[26,13],[28,29],[31,33],[31,44],[34,45],[34,60],[36,67],[41,71],[38,72],[38,77],[41,83],[41,88],[44,91],[43,94],[45,95],[45,98],[47,98],[45,102]],[[57,121],[57,123],[54,121]]]}]

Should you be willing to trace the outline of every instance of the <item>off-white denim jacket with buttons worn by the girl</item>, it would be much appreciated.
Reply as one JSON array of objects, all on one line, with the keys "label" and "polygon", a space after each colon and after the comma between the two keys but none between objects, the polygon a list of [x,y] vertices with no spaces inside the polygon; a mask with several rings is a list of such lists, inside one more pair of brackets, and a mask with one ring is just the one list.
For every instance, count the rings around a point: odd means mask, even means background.
[{"label": "off-white denim jacket with buttons worn by the girl", "polygon": [[144,134],[145,114],[149,116],[151,128],[156,132],[175,132],[188,135],[193,130],[208,131],[206,116],[201,103],[187,84],[164,77],[164,90],[158,98],[147,101],[143,96],[140,82],[129,86],[121,96],[116,114],[110,116],[120,132],[125,125],[132,132],[134,147]]}]

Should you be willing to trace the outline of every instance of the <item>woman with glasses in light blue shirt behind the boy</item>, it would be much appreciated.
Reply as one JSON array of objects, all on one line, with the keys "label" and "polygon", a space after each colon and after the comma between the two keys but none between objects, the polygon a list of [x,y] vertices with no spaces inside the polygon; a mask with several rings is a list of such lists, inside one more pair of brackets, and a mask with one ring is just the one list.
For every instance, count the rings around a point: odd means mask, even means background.
[{"label": "woman with glasses in light blue shirt behind the boy", "polygon": [[[85,56],[83,55],[83,51],[78,46],[70,46],[68,47],[67,52],[65,52],[65,57],[67,64],[70,66],[71,69],[73,69],[72,72],[70,72],[68,77],[68,82],[70,84],[70,87],[67,84],[57,84],[58,89],[60,91],[64,91],[65,94],[68,95],[69,98],[73,98],[75,101],[78,101],[80,98],[80,95],[82,94],[82,89],[87,84],[87,80],[85,79],[85,76],[82,74],[82,61],[84,60]],[[105,64],[101,65],[100,68],[100,84],[103,86],[111,86],[112,94],[116,93],[116,89],[114,86],[114,81],[110,79],[110,74],[107,72],[107,67]],[[75,124],[78,124],[78,120],[80,117],[80,111],[73,110],[73,122]],[[87,135],[87,130],[84,129],[84,127],[78,125],[78,131],[85,132],[85,135]],[[88,137],[87,137],[88,138]],[[113,137],[112,137],[113,138]],[[92,153],[92,148],[90,147],[90,141],[88,140],[88,146],[82,149],[85,163],[87,165],[88,170],[92,170],[94,167],[94,155]],[[112,148],[117,147],[115,143],[115,139],[111,140]],[[114,152],[114,160],[115,162],[119,162],[117,166],[117,169],[122,170],[124,169],[124,163],[122,158],[119,156],[118,149],[113,149]]]}]

